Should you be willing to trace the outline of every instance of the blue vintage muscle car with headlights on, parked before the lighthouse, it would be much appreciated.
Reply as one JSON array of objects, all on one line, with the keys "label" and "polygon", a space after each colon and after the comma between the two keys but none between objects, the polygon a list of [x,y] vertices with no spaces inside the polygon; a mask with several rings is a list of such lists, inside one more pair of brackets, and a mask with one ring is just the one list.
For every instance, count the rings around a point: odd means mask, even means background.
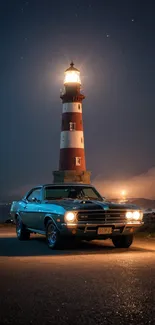
[{"label": "blue vintage muscle car with headlights on, parked before the lighthouse", "polygon": [[19,240],[31,233],[46,236],[49,248],[65,239],[111,238],[115,247],[129,248],[133,233],[143,224],[137,206],[106,202],[92,185],[46,184],[31,189],[10,209]]}]

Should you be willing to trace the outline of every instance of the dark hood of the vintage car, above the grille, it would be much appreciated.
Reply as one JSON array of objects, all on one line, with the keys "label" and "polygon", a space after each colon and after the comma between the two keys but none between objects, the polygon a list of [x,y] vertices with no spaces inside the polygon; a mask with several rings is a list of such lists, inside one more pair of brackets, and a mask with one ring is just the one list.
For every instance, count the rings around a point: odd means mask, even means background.
[{"label": "dark hood of the vintage car, above the grille", "polygon": [[119,209],[119,210],[128,210],[128,209],[138,209],[140,207],[133,204],[119,204],[106,201],[97,201],[97,200],[57,200],[47,202],[50,204],[55,204],[63,207],[65,210],[109,210],[109,209]]}]

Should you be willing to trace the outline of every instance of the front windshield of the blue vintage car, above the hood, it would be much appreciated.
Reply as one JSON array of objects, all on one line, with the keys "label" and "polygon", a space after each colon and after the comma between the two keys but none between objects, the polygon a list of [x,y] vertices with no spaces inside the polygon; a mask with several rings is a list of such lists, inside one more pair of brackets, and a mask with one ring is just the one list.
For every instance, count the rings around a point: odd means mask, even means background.
[{"label": "front windshield of the blue vintage car, above the hood", "polygon": [[45,187],[44,199],[88,199],[103,201],[100,194],[91,186],[47,186]]}]

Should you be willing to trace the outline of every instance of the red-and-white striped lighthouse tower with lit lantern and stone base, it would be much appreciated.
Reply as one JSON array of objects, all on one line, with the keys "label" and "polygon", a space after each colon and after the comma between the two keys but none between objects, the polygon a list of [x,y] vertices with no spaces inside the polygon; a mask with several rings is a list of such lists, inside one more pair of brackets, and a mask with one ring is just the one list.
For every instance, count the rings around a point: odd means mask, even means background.
[{"label": "red-and-white striped lighthouse tower with lit lantern and stone base", "polygon": [[86,171],[80,71],[71,62],[65,71],[64,91],[61,93],[62,118],[59,170],[53,172],[54,183],[90,183]]}]

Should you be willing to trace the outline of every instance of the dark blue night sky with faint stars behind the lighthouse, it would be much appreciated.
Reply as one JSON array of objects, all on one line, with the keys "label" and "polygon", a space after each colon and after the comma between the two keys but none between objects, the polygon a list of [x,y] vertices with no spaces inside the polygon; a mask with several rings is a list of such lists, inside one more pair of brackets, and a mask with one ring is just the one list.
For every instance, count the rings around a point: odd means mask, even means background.
[{"label": "dark blue night sky with faint stars behind the lighthouse", "polygon": [[[52,182],[59,160],[60,89],[71,60],[81,71],[86,96],[92,181],[127,184],[150,175],[154,17],[154,0],[0,1],[1,196]],[[154,169],[151,175],[153,180]]]}]

